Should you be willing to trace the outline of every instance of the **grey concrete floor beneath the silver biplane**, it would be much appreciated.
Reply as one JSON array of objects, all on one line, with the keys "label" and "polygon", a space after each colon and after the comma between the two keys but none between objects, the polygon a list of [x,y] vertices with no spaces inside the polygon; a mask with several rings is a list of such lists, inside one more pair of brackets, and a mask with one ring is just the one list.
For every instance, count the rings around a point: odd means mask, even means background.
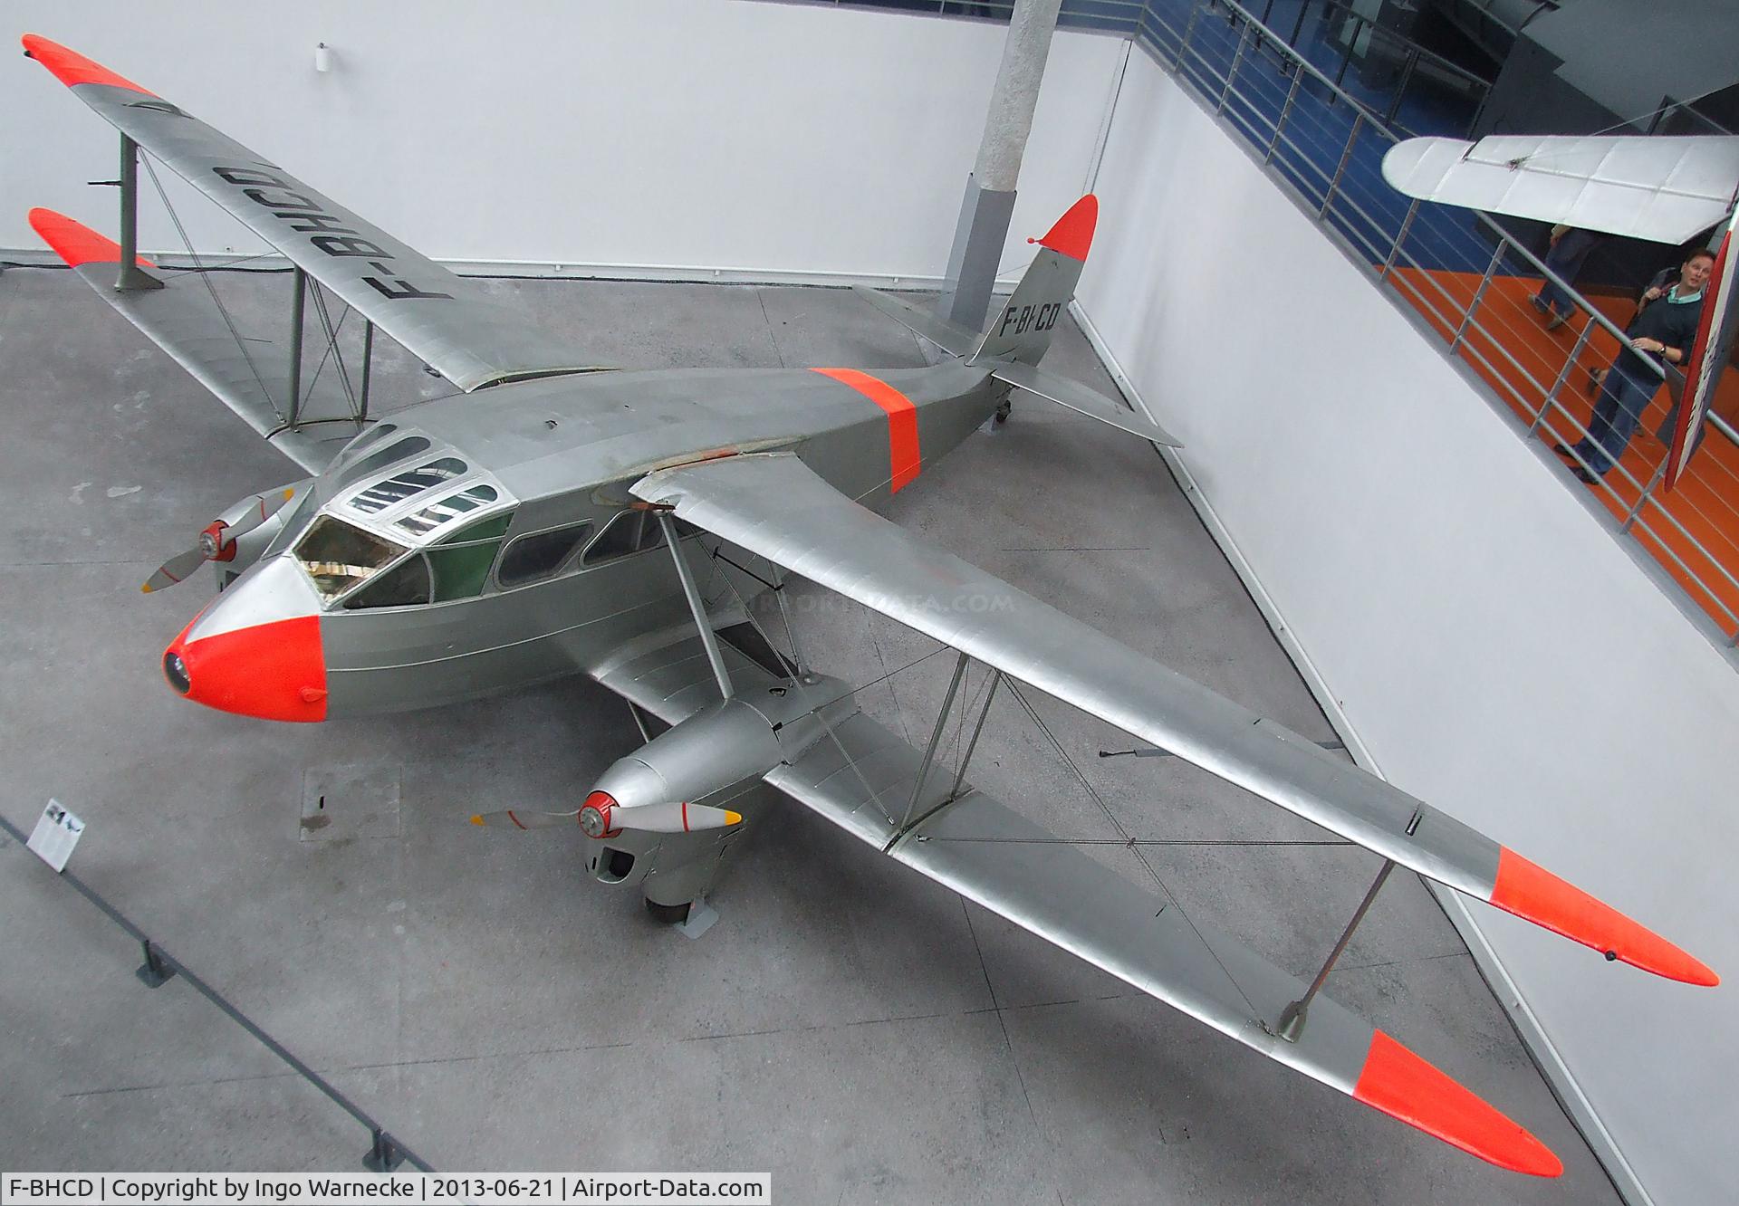
[{"label": "grey concrete floor beneath the silver biplane", "polygon": [[[283,276],[224,276],[243,318]],[[497,282],[603,363],[923,363],[840,290]],[[280,320],[273,320],[277,323]],[[383,346],[386,405],[442,391]],[[1417,878],[1327,992],[1529,1126],[1558,1182],[1494,1170],[1137,994],[786,803],[699,940],[583,878],[583,838],[480,808],[572,806],[636,740],[567,681],[280,726],[177,700],[163,645],[202,579],[137,584],[294,467],[64,271],[0,275],[0,813],[50,798],[71,869],[443,1171],[755,1170],[779,1203],[1616,1203]],[[1109,389],[1071,328],[1047,368]],[[480,401],[480,405],[485,405]],[[1158,415],[1162,421],[1165,415]],[[1151,448],[1036,400],[892,518],[1299,732],[1327,721]],[[819,591],[805,653],[852,681],[930,652]],[[864,693],[922,742],[948,655]],[[974,676],[972,683],[977,683]],[[1179,904],[1308,975],[1376,857],[1035,699]],[[1000,697],[974,780],[1104,839],[1104,808]],[[299,839],[306,792],[334,824]],[[1136,851],[1089,846],[1144,878]],[[0,838],[0,1166],[341,1170],[367,1133]]]}]

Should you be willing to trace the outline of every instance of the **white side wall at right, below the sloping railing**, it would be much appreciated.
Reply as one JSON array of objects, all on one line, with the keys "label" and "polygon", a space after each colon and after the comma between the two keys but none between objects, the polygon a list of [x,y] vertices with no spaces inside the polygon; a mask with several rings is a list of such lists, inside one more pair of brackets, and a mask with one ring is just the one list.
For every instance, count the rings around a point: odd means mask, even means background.
[{"label": "white side wall at right, below the sloping railing", "polygon": [[[1146,56],[1097,191],[1082,308],[1383,773],[1739,982],[1734,667]],[[1468,907],[1654,1201],[1739,1201],[1736,989]]]}]

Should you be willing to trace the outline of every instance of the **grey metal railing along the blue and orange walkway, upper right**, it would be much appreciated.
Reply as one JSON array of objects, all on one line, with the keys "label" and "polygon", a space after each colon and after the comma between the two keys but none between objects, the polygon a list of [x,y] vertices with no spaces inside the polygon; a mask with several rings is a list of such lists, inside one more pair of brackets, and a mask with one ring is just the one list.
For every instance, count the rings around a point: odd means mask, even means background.
[{"label": "grey metal railing along the blue and orange walkway, upper right", "polygon": [[[1381,160],[1398,139],[1381,113],[1233,0],[1149,0],[1136,40],[1249,139],[1318,224],[1370,264],[1372,282],[1423,315],[1449,355],[1466,360],[1529,434],[1569,448],[1588,438],[1581,415],[1591,398],[1576,386],[1631,348],[1622,328],[1485,214],[1393,193]],[[1549,339],[1530,304],[1544,282],[1574,304],[1556,328],[1562,335]],[[1669,384],[1682,381],[1676,368],[1636,355]],[[1619,537],[1647,549],[1727,643],[1739,645],[1739,455],[1716,457],[1706,447],[1689,481],[1662,494],[1666,447],[1649,421],[1661,408],[1657,398],[1628,454],[1596,476],[1596,497],[1617,520]],[[1722,438],[1711,445],[1739,448],[1727,422],[1711,415],[1709,426]],[[1595,476],[1581,454],[1572,459]]]}]

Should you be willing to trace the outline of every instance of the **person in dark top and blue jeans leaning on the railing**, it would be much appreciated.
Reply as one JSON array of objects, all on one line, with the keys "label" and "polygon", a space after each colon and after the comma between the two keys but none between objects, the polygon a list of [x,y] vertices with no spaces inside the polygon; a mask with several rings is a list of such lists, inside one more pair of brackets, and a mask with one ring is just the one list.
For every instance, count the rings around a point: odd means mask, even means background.
[{"label": "person in dark top and blue jeans leaning on the railing", "polygon": [[1650,285],[1643,292],[1636,316],[1624,328],[1629,346],[1619,349],[1600,382],[1588,436],[1574,447],[1553,447],[1558,455],[1577,459],[1570,473],[1582,481],[1593,483],[1617,464],[1642,422],[1642,412],[1661,388],[1661,374],[1638,353],[1659,356],[1669,365],[1682,365],[1690,358],[1690,344],[1702,318],[1702,287],[1709,283],[1713,268],[1715,252],[1692,252],[1678,269],[1676,283]]}]

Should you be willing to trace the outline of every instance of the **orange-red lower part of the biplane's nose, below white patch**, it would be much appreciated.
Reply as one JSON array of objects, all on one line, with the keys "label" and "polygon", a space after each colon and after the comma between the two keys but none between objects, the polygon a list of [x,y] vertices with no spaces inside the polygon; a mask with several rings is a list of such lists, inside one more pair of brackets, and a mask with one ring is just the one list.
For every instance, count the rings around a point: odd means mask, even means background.
[{"label": "orange-red lower part of the biplane's nose, below white patch", "polygon": [[188,639],[188,629],[163,652],[163,674],[181,695],[240,716],[325,719],[318,615],[254,624],[195,641]]}]

